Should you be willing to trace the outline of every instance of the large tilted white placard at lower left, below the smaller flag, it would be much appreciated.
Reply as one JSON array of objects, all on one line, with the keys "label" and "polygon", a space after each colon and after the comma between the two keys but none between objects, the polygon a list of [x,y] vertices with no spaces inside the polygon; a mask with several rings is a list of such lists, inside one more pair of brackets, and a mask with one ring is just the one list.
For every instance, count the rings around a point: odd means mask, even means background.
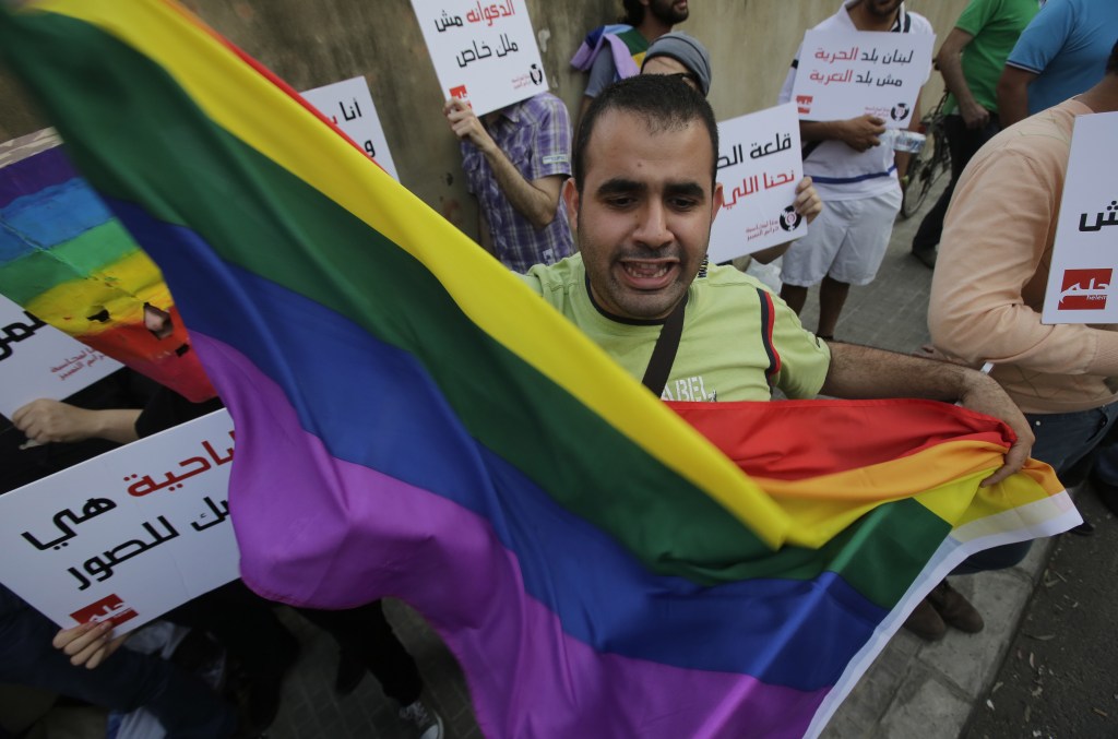
[{"label": "large tilted white placard at lower left, below the smaller flag", "polygon": [[0,495],[0,581],[123,634],[238,577],[233,419],[212,413]]}]

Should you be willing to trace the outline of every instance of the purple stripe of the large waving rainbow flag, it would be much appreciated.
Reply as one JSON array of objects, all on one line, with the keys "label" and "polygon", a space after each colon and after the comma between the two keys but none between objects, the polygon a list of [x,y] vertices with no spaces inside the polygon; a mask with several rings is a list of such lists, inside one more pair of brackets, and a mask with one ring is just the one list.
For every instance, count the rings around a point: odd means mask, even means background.
[{"label": "purple stripe of the large waving rainbow flag", "polygon": [[[267,572],[268,581],[305,584],[288,601],[303,596],[320,606],[347,607],[394,596],[437,615],[432,625],[465,667],[479,720],[495,736],[609,736],[634,726],[644,727],[646,737],[803,733],[827,688],[799,691],[748,675],[596,652],[524,593],[518,558],[483,517],[332,457],[300,427],[271,379],[228,344],[192,338],[215,385],[231,392],[225,400],[235,424],[244,427],[245,417],[258,415],[257,425],[283,429],[237,438],[239,459],[268,464],[267,470],[235,464],[230,481],[238,491],[230,505],[249,586]],[[322,495],[326,485],[339,493]],[[316,498],[313,510],[304,505],[309,491]],[[241,511],[252,511],[252,520]],[[283,571],[271,569],[275,561]],[[482,669],[486,664],[515,669]],[[565,694],[556,694],[557,685]],[[511,704],[523,710],[505,714]],[[664,712],[650,713],[650,707]],[[789,728],[789,716],[803,717],[803,723]],[[527,723],[506,726],[513,717]]]}]

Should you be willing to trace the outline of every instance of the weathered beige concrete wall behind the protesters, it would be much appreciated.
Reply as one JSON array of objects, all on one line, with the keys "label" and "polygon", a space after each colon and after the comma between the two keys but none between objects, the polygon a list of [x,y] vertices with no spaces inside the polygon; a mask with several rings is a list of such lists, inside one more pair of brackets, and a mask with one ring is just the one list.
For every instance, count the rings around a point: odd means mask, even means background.
[{"label": "weathered beige concrete wall behind the protesters", "polygon": [[[471,236],[476,209],[462,184],[457,143],[409,0],[183,0],[203,20],[296,89],[364,75],[402,183]],[[589,28],[616,20],[619,0],[523,0],[552,92],[576,112],[585,76],[569,68]],[[713,57],[710,100],[730,119],[776,102],[804,29],[839,0],[692,0],[680,28]],[[966,0],[909,0],[941,40]],[[942,86],[934,75],[926,103]],[[46,125],[0,69],[0,141]],[[294,142],[293,142],[294,143]]]}]

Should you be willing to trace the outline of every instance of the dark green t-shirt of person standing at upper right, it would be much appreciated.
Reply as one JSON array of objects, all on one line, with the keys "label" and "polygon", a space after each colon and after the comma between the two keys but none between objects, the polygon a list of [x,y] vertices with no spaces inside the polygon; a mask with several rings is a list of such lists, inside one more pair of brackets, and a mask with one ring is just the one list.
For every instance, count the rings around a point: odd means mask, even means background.
[{"label": "dark green t-shirt of person standing at upper right", "polygon": [[[997,112],[997,79],[1017,37],[1040,10],[1036,0],[970,0],[955,27],[974,36],[963,49],[963,77],[975,101]],[[944,112],[958,107],[949,95]]]}]

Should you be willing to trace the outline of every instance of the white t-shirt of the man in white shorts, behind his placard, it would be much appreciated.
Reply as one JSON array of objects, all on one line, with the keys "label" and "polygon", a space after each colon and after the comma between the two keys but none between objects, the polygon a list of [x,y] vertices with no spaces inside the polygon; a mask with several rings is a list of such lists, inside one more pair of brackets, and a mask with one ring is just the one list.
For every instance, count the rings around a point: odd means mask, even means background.
[{"label": "white t-shirt of the man in white shorts, behind his placard", "polygon": [[[894,32],[928,34],[935,35],[931,23],[923,16],[909,12],[901,3],[897,22],[893,25]],[[839,8],[839,12],[831,16],[813,30],[858,30],[854,21],[846,10],[846,2]],[[780,88],[780,103],[792,100],[792,88],[796,83],[796,67],[799,64],[799,54],[803,50],[796,49],[796,59],[788,69],[788,76]],[[925,74],[925,82],[931,75],[931,65]],[[893,164],[893,150],[885,145],[873,146],[863,152],[858,152],[841,141],[811,142],[818,145],[804,160],[804,174],[809,176],[815,183],[815,189],[824,201],[826,200],[856,200],[874,195],[880,195],[899,187],[897,181],[897,167]]]}]

